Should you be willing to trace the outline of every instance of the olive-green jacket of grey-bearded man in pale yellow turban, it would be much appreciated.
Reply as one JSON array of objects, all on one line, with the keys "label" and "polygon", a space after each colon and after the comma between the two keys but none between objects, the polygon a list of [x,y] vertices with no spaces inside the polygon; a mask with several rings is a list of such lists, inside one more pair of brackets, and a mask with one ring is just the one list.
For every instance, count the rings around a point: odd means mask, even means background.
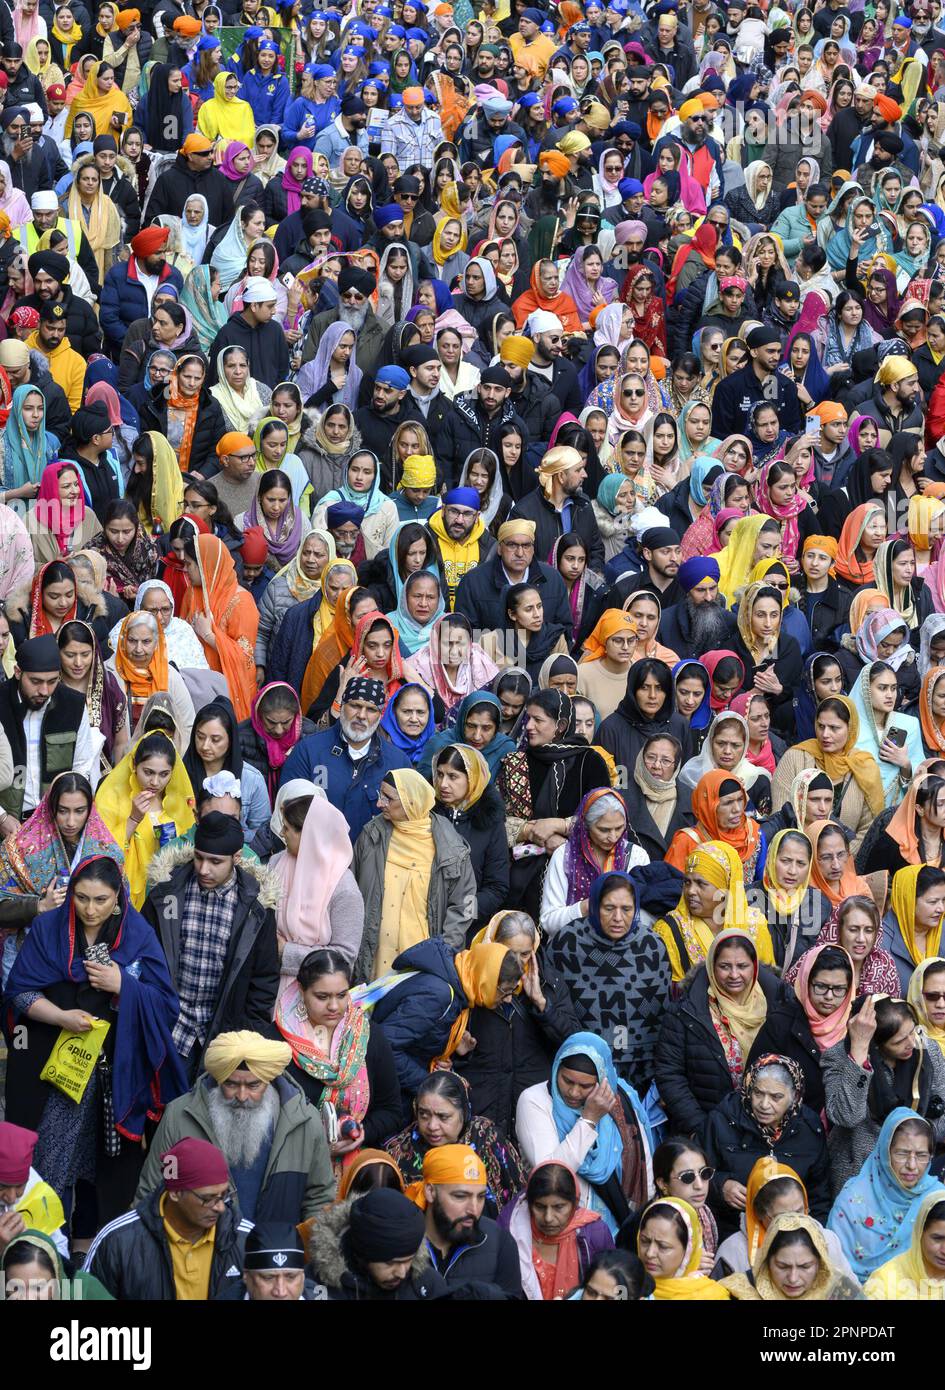
[{"label": "olive-green jacket of grey-bearded man in pale yellow turban", "polygon": [[[281,1108],[254,1215],[257,1222],[285,1220],[296,1225],[335,1200],[335,1175],[318,1111],[285,1073],[272,1084],[279,1093]],[[161,1186],[161,1154],[178,1140],[203,1138],[220,1145],[208,1105],[214,1086],[215,1081],[204,1073],[164,1111],[147,1150],[135,1205],[145,1202]]]}]

